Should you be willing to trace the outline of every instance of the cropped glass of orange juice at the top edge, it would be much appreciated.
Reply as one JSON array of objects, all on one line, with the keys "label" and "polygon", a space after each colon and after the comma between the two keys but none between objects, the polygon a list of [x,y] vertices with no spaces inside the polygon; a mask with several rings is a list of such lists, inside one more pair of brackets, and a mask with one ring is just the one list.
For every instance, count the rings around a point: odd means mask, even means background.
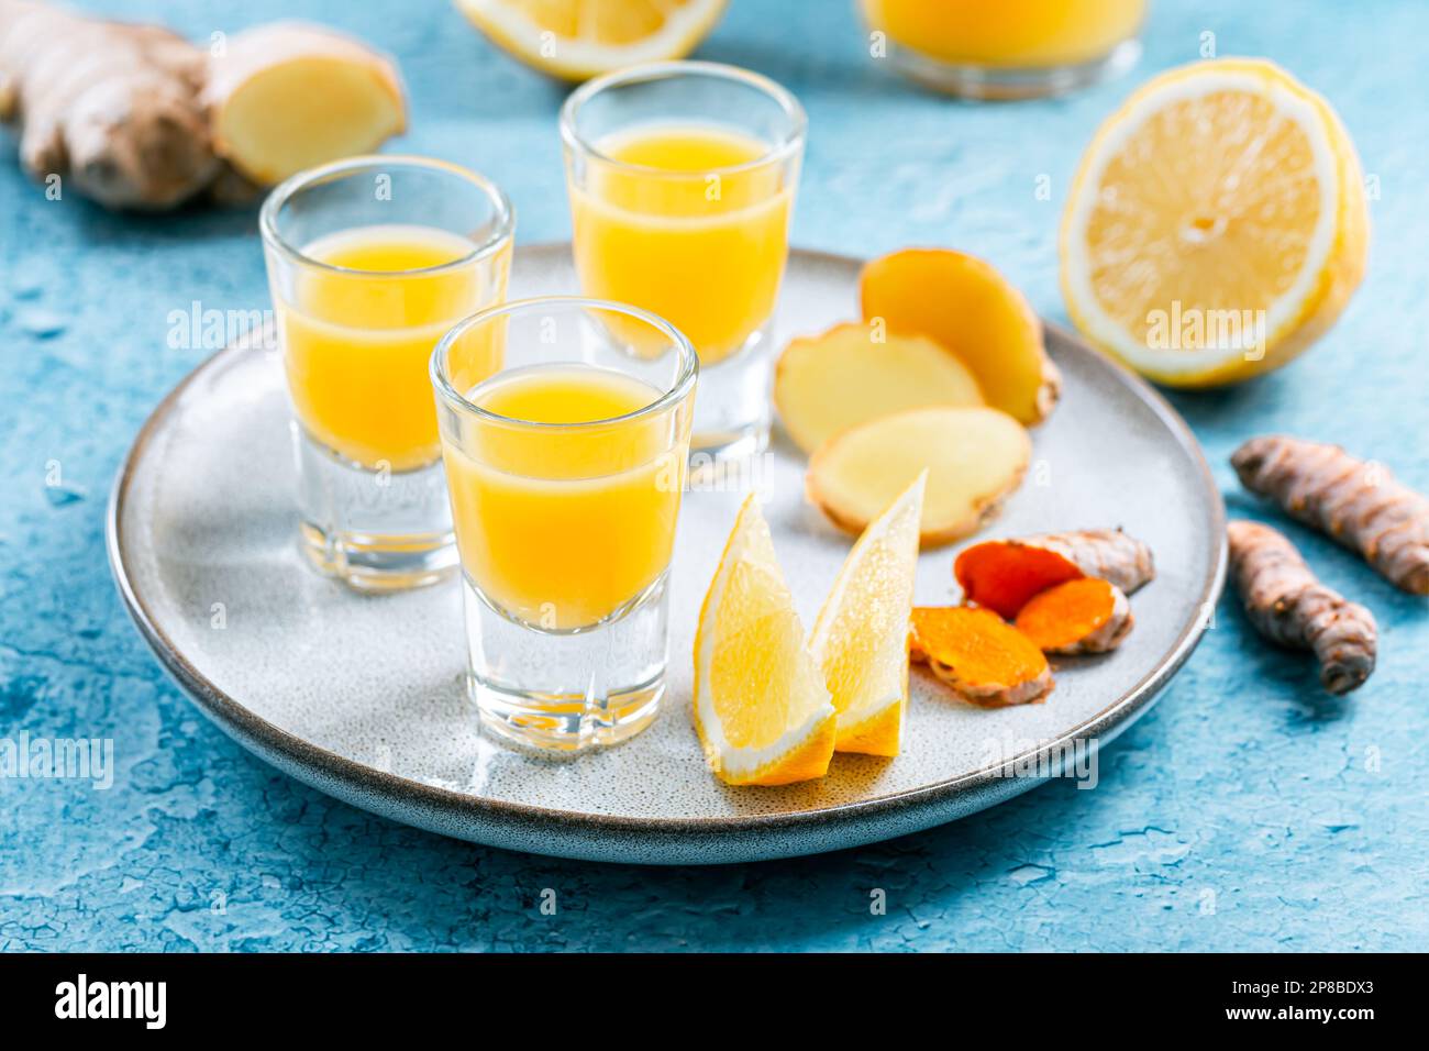
[{"label": "cropped glass of orange juice at the top edge", "polygon": [[1147,0],[859,0],[886,57],[969,99],[1060,94],[1127,70]]}]

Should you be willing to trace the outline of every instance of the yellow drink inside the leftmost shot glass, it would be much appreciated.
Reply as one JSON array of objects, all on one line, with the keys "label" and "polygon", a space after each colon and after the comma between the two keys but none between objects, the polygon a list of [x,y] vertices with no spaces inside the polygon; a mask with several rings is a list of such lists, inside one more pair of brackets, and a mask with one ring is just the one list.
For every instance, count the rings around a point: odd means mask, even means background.
[{"label": "yellow drink inside the leftmost shot glass", "polygon": [[490,269],[457,265],[476,249],[409,224],[303,246],[322,266],[296,276],[290,302],[274,290],[274,306],[293,410],[316,442],[372,469],[439,459],[427,360],[447,329],[490,299]]}]

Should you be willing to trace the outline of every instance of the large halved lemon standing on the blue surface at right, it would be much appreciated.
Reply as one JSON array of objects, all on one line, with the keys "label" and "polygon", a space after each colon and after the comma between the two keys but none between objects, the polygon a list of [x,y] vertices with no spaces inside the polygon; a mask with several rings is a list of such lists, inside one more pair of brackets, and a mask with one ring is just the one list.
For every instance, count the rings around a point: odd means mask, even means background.
[{"label": "large halved lemon standing on the blue surface at right", "polygon": [[1365,273],[1355,146],[1273,63],[1222,59],[1140,87],[1097,130],[1062,217],[1079,329],[1160,383],[1232,383],[1285,365]]}]

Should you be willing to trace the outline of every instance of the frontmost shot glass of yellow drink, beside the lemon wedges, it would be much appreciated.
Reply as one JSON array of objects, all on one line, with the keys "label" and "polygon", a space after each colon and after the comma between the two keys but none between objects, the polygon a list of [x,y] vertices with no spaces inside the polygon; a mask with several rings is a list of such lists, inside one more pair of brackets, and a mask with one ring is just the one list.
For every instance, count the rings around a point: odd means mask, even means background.
[{"label": "frontmost shot glass of yellow drink, beside the lemon wedges", "polygon": [[670,323],[579,297],[492,307],[432,355],[469,684],[496,734],[576,752],[654,718],[697,372]]}]

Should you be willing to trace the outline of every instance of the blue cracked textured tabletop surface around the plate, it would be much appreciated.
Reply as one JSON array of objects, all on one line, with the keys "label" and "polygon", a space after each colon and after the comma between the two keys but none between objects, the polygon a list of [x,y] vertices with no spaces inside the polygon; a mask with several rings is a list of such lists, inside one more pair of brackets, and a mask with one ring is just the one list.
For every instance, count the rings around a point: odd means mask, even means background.
[{"label": "blue cracked textured tabletop surface around the plate", "polygon": [[[447,3],[91,6],[196,39],[294,13],[353,30],[409,80],[412,133],[396,147],[496,177],[520,240],[569,236],[563,92]],[[907,87],[865,57],[843,0],[733,0],[700,54],[769,73],[807,106],[797,243],[967,249],[1056,319],[1067,179],[1136,83],[1196,59],[1210,31],[1222,54],[1273,57],[1325,92],[1378,177],[1369,277],[1292,367],[1175,399],[1232,513],[1253,513],[1225,459],[1263,430],[1342,440],[1429,489],[1429,4],[1353,9],[1163,0],[1129,77],[1016,106]],[[169,312],[266,306],[254,213],[129,219],[47,202],[4,150],[0,738],[113,738],[117,775],[109,791],[0,781],[0,948],[1429,948],[1429,609],[1296,528],[1320,575],[1379,616],[1380,668],[1353,699],[1323,701],[1310,663],[1256,641],[1228,599],[1160,705],[1103,756],[1097,789],[1053,782],[883,845],[719,869],[560,862],[417,832],[273,772],[160,675],[103,549],[120,458],[207,353],[167,349]],[[1036,196],[1043,174],[1050,200]],[[546,888],[554,915],[540,909]],[[870,911],[876,888],[886,915]]]}]

